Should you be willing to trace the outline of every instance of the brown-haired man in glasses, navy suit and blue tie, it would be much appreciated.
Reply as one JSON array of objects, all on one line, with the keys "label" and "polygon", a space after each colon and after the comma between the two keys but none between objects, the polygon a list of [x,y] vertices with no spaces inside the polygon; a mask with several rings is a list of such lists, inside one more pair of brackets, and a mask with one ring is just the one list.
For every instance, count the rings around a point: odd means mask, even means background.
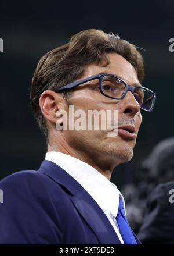
[{"label": "brown-haired man in glasses, navy suit and blue tie", "polygon": [[[1,181],[0,243],[140,243],[110,178],[115,166],[132,158],[140,109],[154,106],[155,94],[140,84],[143,75],[136,47],[101,30],[82,31],[41,58],[31,104],[48,152],[37,172],[14,173]],[[100,129],[106,120],[99,129],[93,122],[93,129],[72,129],[70,106],[75,117],[78,111],[86,116],[90,110],[112,111],[114,128],[117,111],[118,129]]]}]

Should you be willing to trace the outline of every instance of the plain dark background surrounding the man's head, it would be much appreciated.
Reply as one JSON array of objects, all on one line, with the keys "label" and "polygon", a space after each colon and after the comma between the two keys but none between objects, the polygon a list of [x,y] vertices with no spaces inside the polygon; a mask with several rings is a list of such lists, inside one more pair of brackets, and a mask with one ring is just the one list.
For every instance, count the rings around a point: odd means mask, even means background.
[{"label": "plain dark background surrounding the man's head", "polygon": [[157,93],[131,162],[115,169],[113,182],[133,182],[140,162],[158,141],[173,136],[174,2],[165,1],[1,1],[1,166],[0,179],[37,169],[45,158],[45,138],[33,118],[29,91],[35,67],[46,52],[84,29],[102,29],[146,49],[144,86]]}]

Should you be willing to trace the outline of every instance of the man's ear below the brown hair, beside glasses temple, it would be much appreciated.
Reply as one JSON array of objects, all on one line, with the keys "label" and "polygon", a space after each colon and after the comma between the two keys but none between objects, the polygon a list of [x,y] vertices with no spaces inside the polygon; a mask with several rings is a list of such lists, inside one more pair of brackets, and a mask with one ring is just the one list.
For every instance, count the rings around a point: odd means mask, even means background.
[{"label": "man's ear below the brown hair, beside glasses temple", "polygon": [[39,106],[42,111],[42,115],[49,122],[56,124],[57,118],[61,119],[61,116],[56,116],[56,112],[60,109],[65,109],[65,100],[60,93],[55,91],[46,90],[41,94],[39,98]]}]

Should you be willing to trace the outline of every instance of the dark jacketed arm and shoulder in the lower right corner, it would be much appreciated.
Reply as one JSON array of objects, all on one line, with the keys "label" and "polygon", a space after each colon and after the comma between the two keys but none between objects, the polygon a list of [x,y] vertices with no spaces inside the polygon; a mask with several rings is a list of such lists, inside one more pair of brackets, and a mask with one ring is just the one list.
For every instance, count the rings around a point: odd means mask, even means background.
[{"label": "dark jacketed arm and shoulder in the lower right corner", "polygon": [[147,200],[139,230],[143,244],[174,244],[174,181],[158,184]]}]

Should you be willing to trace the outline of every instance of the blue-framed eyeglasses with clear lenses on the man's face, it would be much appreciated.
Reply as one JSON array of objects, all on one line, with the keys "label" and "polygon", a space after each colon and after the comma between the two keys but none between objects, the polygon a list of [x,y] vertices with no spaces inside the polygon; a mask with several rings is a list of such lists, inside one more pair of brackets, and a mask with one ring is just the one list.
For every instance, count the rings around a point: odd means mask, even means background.
[{"label": "blue-framed eyeglasses with clear lenses on the man's face", "polygon": [[144,111],[152,111],[156,94],[146,87],[142,86],[130,86],[124,80],[120,79],[113,74],[99,73],[95,76],[90,76],[85,79],[74,81],[73,83],[67,84],[57,90],[57,93],[61,93],[66,90],[70,90],[79,86],[80,84],[99,79],[100,93],[111,99],[123,99],[128,91],[131,91],[136,101],[139,103],[140,108]]}]

